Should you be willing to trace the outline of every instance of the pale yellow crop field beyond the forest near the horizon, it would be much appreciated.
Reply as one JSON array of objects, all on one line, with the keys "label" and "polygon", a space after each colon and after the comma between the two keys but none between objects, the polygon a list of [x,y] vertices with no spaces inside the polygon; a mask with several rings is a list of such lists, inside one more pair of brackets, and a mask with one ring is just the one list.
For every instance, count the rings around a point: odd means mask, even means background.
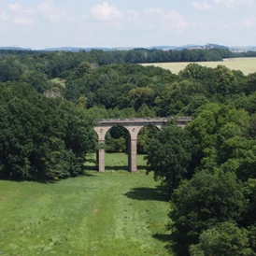
[{"label": "pale yellow crop field beyond the forest near the horizon", "polygon": [[[178,74],[180,70],[183,70],[187,64],[190,63],[161,63],[161,64],[143,64],[143,65],[155,65],[165,69],[171,70],[172,73]],[[207,67],[216,67],[218,64],[223,64],[230,69],[241,70],[245,75],[256,72],[256,58],[234,58],[225,59],[223,62],[204,62],[197,63]]]}]

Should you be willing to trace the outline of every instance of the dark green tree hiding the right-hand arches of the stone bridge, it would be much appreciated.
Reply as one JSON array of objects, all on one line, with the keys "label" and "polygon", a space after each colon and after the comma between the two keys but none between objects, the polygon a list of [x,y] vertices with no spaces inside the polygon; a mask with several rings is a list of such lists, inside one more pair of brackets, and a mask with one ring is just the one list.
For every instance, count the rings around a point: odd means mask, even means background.
[{"label": "dark green tree hiding the right-hand arches of the stone bridge", "polygon": [[191,178],[188,167],[191,161],[192,139],[187,132],[171,124],[164,127],[149,142],[147,173],[153,172],[155,179],[161,179],[170,192],[178,188],[183,178]]}]

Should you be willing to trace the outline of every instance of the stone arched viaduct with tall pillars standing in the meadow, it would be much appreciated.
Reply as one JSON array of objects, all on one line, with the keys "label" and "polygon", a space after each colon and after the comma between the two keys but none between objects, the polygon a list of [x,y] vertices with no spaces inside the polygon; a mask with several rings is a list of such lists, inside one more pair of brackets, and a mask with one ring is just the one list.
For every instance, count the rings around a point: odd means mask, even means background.
[{"label": "stone arched viaduct with tall pillars standing in the meadow", "polygon": [[[141,128],[146,125],[154,125],[159,130],[167,124],[170,119],[125,119],[125,120],[101,120],[94,126],[94,130],[98,135],[99,144],[105,144],[105,136],[107,131],[113,126],[122,126],[129,133],[128,140],[128,168],[130,172],[136,172],[136,154],[137,154],[137,135]],[[192,118],[178,118],[176,119],[178,126],[184,127],[186,123],[192,121]],[[97,152],[98,171],[105,171],[105,149],[100,147]]]}]

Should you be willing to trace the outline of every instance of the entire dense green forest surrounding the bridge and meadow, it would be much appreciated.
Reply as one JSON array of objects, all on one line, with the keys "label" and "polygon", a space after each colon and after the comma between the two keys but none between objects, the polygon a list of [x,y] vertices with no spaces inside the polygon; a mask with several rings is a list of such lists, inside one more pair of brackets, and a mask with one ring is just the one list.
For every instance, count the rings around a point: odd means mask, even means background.
[{"label": "entire dense green forest surrounding the bridge and meadow", "polygon": [[[162,132],[144,129],[138,143],[147,172],[163,180],[171,199],[169,249],[256,255],[256,73],[189,64],[174,75],[134,64],[150,56],[174,61],[175,54],[177,61],[206,61],[233,53],[1,51],[0,178],[84,174],[86,155],[97,149],[97,119],[192,116],[185,129],[175,121]],[[47,90],[59,96],[48,98]],[[125,151],[126,136],[112,129],[107,150]]]}]

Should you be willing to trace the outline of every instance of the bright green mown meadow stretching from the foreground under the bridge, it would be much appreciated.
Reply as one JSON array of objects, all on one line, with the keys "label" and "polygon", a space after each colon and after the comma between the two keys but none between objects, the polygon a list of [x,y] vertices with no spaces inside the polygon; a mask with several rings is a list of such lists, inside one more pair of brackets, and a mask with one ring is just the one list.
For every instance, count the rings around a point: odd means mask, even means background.
[{"label": "bright green mown meadow stretching from the foreground under the bridge", "polygon": [[0,255],[169,255],[159,183],[143,170],[110,170],[127,164],[124,154],[106,162],[106,173],[52,184],[0,180]]}]

